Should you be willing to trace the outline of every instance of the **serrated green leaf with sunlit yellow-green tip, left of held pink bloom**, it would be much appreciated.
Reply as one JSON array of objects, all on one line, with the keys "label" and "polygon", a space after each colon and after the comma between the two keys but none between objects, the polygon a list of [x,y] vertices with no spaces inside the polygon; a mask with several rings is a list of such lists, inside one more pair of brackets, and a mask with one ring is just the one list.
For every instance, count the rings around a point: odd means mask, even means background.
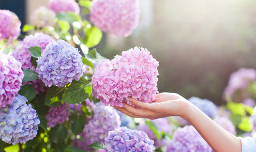
[{"label": "serrated green leaf with sunlit yellow-green tip, left of held pink bloom", "polygon": [[89,81],[80,78],[79,81],[73,81],[70,86],[68,86],[63,94],[63,99],[61,101],[68,104],[77,104],[84,102],[92,93],[92,86]]}]

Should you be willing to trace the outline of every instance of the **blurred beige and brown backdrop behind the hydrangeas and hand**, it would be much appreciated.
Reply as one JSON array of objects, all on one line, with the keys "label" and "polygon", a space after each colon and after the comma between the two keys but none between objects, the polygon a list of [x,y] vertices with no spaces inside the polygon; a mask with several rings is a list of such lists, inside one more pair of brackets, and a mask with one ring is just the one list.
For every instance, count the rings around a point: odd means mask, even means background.
[{"label": "blurred beige and brown backdrop behind the hydrangeas and hand", "polygon": [[[41,0],[0,0],[29,24]],[[241,67],[256,69],[256,2],[238,0],[140,0],[141,15],[131,36],[103,34],[98,52],[109,59],[135,46],[159,62],[159,92],[177,92],[225,104],[229,76]],[[22,28],[22,27],[21,27]]]}]

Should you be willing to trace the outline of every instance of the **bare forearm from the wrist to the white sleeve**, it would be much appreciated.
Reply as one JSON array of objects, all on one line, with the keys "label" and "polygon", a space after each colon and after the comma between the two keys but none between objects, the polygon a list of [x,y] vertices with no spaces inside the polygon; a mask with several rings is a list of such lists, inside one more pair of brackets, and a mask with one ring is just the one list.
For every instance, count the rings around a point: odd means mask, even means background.
[{"label": "bare forearm from the wrist to the white sleeve", "polygon": [[196,106],[189,106],[186,115],[182,117],[195,127],[214,151],[242,151],[241,141],[236,136],[223,129]]}]

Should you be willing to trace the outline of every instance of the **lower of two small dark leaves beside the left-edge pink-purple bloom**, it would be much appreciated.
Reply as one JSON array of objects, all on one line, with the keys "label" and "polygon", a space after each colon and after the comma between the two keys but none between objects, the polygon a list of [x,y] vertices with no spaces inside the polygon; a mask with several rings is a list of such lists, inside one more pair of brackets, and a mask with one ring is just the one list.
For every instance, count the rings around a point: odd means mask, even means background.
[{"label": "lower of two small dark leaves beside the left-edge pink-purple bloom", "polygon": [[24,86],[20,87],[18,94],[26,97],[28,99],[28,101],[30,102],[32,99],[35,98],[36,91],[32,85],[24,85]]}]

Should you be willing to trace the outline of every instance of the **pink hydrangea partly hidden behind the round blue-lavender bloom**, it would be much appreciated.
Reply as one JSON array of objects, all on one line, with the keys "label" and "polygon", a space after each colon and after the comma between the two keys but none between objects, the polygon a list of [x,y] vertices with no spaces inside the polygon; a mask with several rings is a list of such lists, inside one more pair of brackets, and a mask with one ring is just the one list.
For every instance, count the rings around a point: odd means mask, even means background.
[{"label": "pink hydrangea partly hidden behind the round blue-lavender bloom", "polygon": [[21,43],[15,51],[12,53],[13,57],[18,60],[22,66],[21,69],[34,69],[33,63],[30,61],[31,55],[29,53],[29,48],[34,46],[39,46],[42,48],[42,52],[46,48],[46,46],[54,41],[54,39],[43,33],[35,33],[35,35],[26,36],[23,39],[23,43]]}]

